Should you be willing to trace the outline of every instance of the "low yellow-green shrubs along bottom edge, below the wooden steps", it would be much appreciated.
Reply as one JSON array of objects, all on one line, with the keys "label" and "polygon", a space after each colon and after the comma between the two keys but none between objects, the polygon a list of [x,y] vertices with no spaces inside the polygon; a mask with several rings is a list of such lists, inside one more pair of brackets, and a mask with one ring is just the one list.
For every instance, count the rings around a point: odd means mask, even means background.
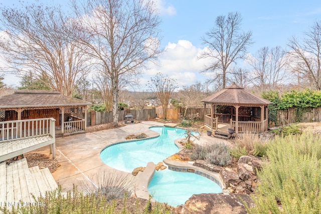
[{"label": "low yellow-green shrubs along bottom edge, below the wooden steps", "polygon": [[[46,213],[46,214],[64,214],[64,213],[174,213],[174,208],[166,203],[153,203],[150,200],[139,205],[139,198],[136,200],[134,210],[128,210],[126,197],[123,202],[116,204],[115,200],[108,201],[106,195],[102,192],[93,194],[84,194],[74,186],[72,191],[67,192],[67,195],[61,191],[61,186],[51,192],[46,192],[38,198],[34,197],[35,202],[39,202],[39,206],[14,206],[13,209],[8,209],[6,206],[0,206],[1,213]],[[144,205],[145,203],[145,205]],[[118,205],[118,206],[117,206]],[[120,205],[120,206],[119,206]]]}]

